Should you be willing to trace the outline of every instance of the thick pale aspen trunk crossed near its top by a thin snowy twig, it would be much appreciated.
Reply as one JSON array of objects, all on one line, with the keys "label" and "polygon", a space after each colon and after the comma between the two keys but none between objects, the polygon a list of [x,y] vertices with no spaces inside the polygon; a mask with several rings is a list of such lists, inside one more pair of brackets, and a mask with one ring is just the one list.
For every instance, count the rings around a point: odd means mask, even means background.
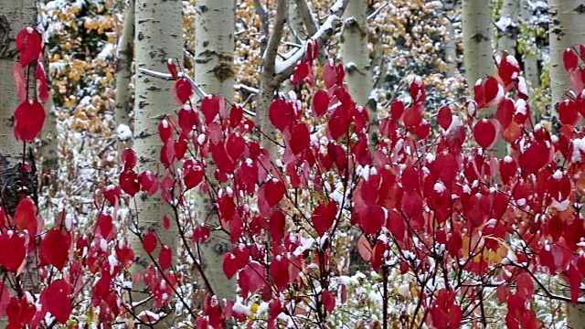
[{"label": "thick pale aspen trunk crossed near its top by a thin snowy twig", "polygon": [[[183,58],[183,16],[182,5],[179,0],[136,0],[135,3],[135,60],[139,68],[166,71],[168,58]],[[137,70],[138,71],[138,70]],[[165,175],[165,170],[159,164],[159,154],[163,146],[159,134],[158,124],[164,115],[176,108],[173,96],[173,82],[152,79],[142,73],[136,75],[136,101],[134,101],[134,140],[133,149],[138,157],[140,172],[150,170]],[[176,260],[176,240],[178,229],[175,220],[171,226],[163,228],[163,217],[170,211],[162,199],[160,192],[154,196],[139,195],[135,198],[137,216],[133,220],[138,222],[139,229],[145,232],[154,229],[161,242],[173,250]],[[175,218],[170,214],[170,218]],[[144,273],[145,265],[151,261],[144,252],[140,240],[133,236],[133,249],[137,261],[133,271]],[[158,260],[160,246],[154,251],[154,259]],[[136,286],[141,290],[144,287]],[[135,296],[138,298],[138,295]],[[147,306],[148,307],[148,306]],[[168,328],[172,316],[165,318],[163,323],[155,327]]]}]

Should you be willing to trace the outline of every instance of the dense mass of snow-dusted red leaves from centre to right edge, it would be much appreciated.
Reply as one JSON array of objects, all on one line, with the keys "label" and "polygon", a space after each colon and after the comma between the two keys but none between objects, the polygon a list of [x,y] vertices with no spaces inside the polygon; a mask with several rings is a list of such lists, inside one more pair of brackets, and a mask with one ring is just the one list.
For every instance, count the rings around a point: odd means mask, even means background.
[{"label": "dense mass of snow-dusted red leaves from centre to right edge", "polygon": [[[312,84],[312,58],[300,62],[293,83]],[[375,271],[396,267],[419,278],[420,309],[429,310],[421,311],[427,324],[447,328],[463,319],[484,321],[479,311],[463,310],[484,298],[478,290],[491,278],[499,282],[500,302],[509,306],[506,324],[536,327],[535,313],[527,307],[534,294],[530,273],[566,275],[572,302],[578,301],[585,274],[585,256],[580,253],[583,219],[569,207],[580,203],[583,192],[585,133],[573,128],[575,119],[566,120],[578,116],[582,97],[563,109],[565,126],[561,135],[552,136],[530,122],[526,83],[516,59],[498,53],[495,65],[497,74],[474,86],[467,111],[440,109],[438,132],[424,118],[425,87],[420,79],[413,80],[410,104],[392,102],[388,117],[381,120],[382,140],[373,153],[367,145],[368,113],[347,93],[343,67],[332,62],[324,65],[325,90],[314,91],[310,112],[296,100],[271,104],[269,118],[284,142],[280,164],[272,164],[270,154],[245,137],[253,122],[243,121],[236,105],[228,111],[220,96],[207,97],[198,109],[185,106],[178,120],[167,116],[161,122],[165,146],[160,160],[167,168],[183,161],[181,191],[217,189],[219,229],[229,232],[237,246],[223,256],[223,270],[228,278],[238,277],[245,300],[256,294],[269,303],[268,327],[274,327],[283,312],[307,316],[314,311],[319,321],[326,321],[335,300],[345,302],[343,285],[330,285],[335,251],[327,241],[335,239],[346,218],[363,232],[360,253]],[[574,64],[568,69],[572,76],[581,71]],[[176,80],[180,104],[189,101],[187,82]],[[573,87],[582,95],[582,85]],[[491,107],[496,108],[495,118],[476,119]],[[312,136],[320,129],[312,122],[324,122],[326,142]],[[490,147],[500,138],[511,153],[497,159]],[[229,187],[204,182],[208,158],[215,165],[213,178]],[[562,158],[567,167],[558,163]],[[158,183],[149,179],[154,183],[148,186],[170,188],[165,186],[165,180],[172,181],[169,175],[154,175]],[[137,174],[129,176],[121,181],[124,191],[133,195],[150,190]],[[335,186],[343,186],[343,192],[334,197],[339,192]],[[300,215],[293,215],[281,206],[293,202],[291,196],[299,192],[314,200],[308,214],[299,209]],[[250,210],[250,203],[257,205],[257,212]],[[193,233],[196,241],[209,236],[207,227]],[[525,247],[508,246],[506,236]],[[318,246],[307,244],[308,239],[319,241]],[[302,278],[319,281],[323,289],[307,286]],[[431,280],[441,280],[443,288],[428,288]],[[298,307],[292,297],[298,290],[314,298],[315,310]],[[250,319],[234,302],[222,307],[207,296],[206,305],[205,315],[197,318],[198,327],[218,328],[232,317]]]}]

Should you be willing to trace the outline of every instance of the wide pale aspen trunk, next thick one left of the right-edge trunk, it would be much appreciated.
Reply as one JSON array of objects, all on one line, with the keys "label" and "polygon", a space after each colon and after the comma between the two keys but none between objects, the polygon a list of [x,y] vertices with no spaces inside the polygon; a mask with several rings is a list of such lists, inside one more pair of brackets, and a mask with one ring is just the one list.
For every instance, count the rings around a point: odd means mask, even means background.
[{"label": "wide pale aspen trunk, next thick one left of the right-edge trunk", "polygon": [[[489,3],[485,0],[463,0],[463,60],[470,93],[473,93],[477,80],[494,72]],[[494,111],[489,114],[493,115]]]}]

